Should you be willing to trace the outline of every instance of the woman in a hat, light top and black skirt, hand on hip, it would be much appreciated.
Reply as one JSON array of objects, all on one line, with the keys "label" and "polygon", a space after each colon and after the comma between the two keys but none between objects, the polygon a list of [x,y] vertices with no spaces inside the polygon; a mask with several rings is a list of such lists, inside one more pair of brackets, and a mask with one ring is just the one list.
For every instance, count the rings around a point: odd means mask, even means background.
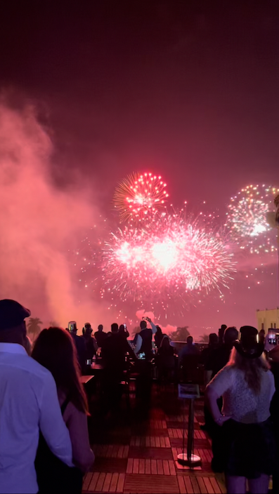
[{"label": "woman in a hat, light top and black skirt, hand on hip", "polygon": [[[275,463],[275,441],[270,421],[275,392],[273,374],[252,326],[240,328],[228,364],[209,382],[205,392],[209,410],[223,427],[223,470],[228,493],[268,493]],[[217,400],[223,397],[220,412]]]}]

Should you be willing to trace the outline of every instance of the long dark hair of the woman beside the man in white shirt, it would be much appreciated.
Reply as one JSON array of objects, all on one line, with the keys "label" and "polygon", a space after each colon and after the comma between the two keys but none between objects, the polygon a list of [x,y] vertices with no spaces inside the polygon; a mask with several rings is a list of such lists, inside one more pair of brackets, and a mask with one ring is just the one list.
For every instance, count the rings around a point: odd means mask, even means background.
[{"label": "long dark hair of the woman beside the man in white shirt", "polygon": [[41,331],[34,343],[32,357],[50,370],[57,389],[81,412],[88,414],[86,394],[79,381],[77,349],[65,329],[48,328]]}]

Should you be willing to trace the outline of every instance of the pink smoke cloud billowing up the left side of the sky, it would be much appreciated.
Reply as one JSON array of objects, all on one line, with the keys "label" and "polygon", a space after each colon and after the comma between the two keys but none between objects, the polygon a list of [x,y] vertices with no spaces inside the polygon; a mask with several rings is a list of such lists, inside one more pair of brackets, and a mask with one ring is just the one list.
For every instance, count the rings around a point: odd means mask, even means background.
[{"label": "pink smoke cloud billowing up the left side of the sky", "polygon": [[1,101],[0,297],[15,298],[45,323],[103,322],[91,300],[78,303],[67,259],[75,239],[99,214],[84,184],[55,185],[52,154],[34,108],[12,109]]}]

